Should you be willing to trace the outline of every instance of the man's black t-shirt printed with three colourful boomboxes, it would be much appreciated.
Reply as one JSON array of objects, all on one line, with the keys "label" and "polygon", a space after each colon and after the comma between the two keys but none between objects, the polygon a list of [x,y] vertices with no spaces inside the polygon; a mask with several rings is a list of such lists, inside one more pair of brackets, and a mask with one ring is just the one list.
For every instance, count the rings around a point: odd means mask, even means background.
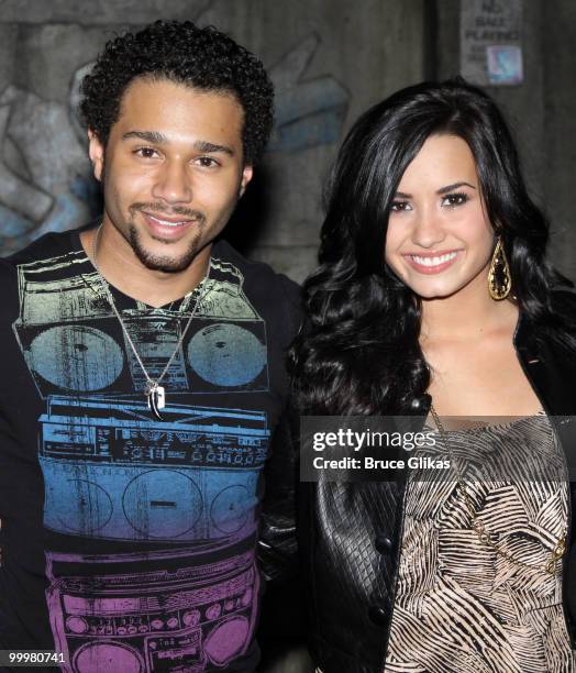
[{"label": "man's black t-shirt printed with three colourful boomboxes", "polygon": [[[2,261],[0,282],[0,649],[81,673],[252,671],[297,286],[218,242],[209,278],[153,308],[100,279],[77,231]],[[198,301],[163,420],[110,297],[151,378]]]}]

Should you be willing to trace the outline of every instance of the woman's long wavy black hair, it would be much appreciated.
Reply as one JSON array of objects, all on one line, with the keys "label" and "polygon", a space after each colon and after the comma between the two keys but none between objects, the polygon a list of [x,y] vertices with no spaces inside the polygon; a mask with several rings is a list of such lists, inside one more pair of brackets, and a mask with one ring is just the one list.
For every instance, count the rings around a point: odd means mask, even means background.
[{"label": "woman's long wavy black hair", "polygon": [[461,78],[408,87],[358,119],[332,170],[320,266],[304,283],[307,326],[289,358],[303,413],[403,413],[428,389],[421,300],[388,269],[384,250],[398,184],[433,134],[468,144],[519,308],[530,320],[554,321],[549,224],[528,196],[502,114]]}]

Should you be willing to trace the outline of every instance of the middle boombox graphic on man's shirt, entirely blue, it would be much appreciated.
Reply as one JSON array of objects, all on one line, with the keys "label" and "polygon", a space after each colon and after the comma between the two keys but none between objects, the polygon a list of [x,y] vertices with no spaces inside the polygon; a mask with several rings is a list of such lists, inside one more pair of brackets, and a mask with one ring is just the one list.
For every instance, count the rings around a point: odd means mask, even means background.
[{"label": "middle boombox graphic on man's shirt, entirely blue", "polygon": [[269,431],[263,412],[51,397],[40,464],[47,528],[123,540],[246,537]]}]

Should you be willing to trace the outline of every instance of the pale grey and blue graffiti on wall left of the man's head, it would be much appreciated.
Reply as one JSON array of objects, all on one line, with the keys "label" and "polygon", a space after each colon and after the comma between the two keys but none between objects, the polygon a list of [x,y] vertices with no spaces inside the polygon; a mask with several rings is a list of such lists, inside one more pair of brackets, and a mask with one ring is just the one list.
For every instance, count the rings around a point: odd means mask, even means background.
[{"label": "pale grey and blue graffiti on wall left of the man's head", "polygon": [[70,100],[44,100],[12,85],[0,95],[0,251],[10,254],[48,231],[90,218],[98,185],[91,177],[85,133]]}]

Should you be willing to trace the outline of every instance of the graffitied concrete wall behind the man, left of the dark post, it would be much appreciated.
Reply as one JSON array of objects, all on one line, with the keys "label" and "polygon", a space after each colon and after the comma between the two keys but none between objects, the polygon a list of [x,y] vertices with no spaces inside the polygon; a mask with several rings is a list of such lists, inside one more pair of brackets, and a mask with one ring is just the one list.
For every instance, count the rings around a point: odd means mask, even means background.
[{"label": "graffitied concrete wall behind the man, left of the dark post", "polygon": [[117,32],[157,18],[212,23],[259,54],[277,126],[230,225],[233,242],[296,279],[314,266],[321,186],[368,106],[422,78],[424,0],[4,0],[0,12],[0,251],[98,210],[77,84]]}]

